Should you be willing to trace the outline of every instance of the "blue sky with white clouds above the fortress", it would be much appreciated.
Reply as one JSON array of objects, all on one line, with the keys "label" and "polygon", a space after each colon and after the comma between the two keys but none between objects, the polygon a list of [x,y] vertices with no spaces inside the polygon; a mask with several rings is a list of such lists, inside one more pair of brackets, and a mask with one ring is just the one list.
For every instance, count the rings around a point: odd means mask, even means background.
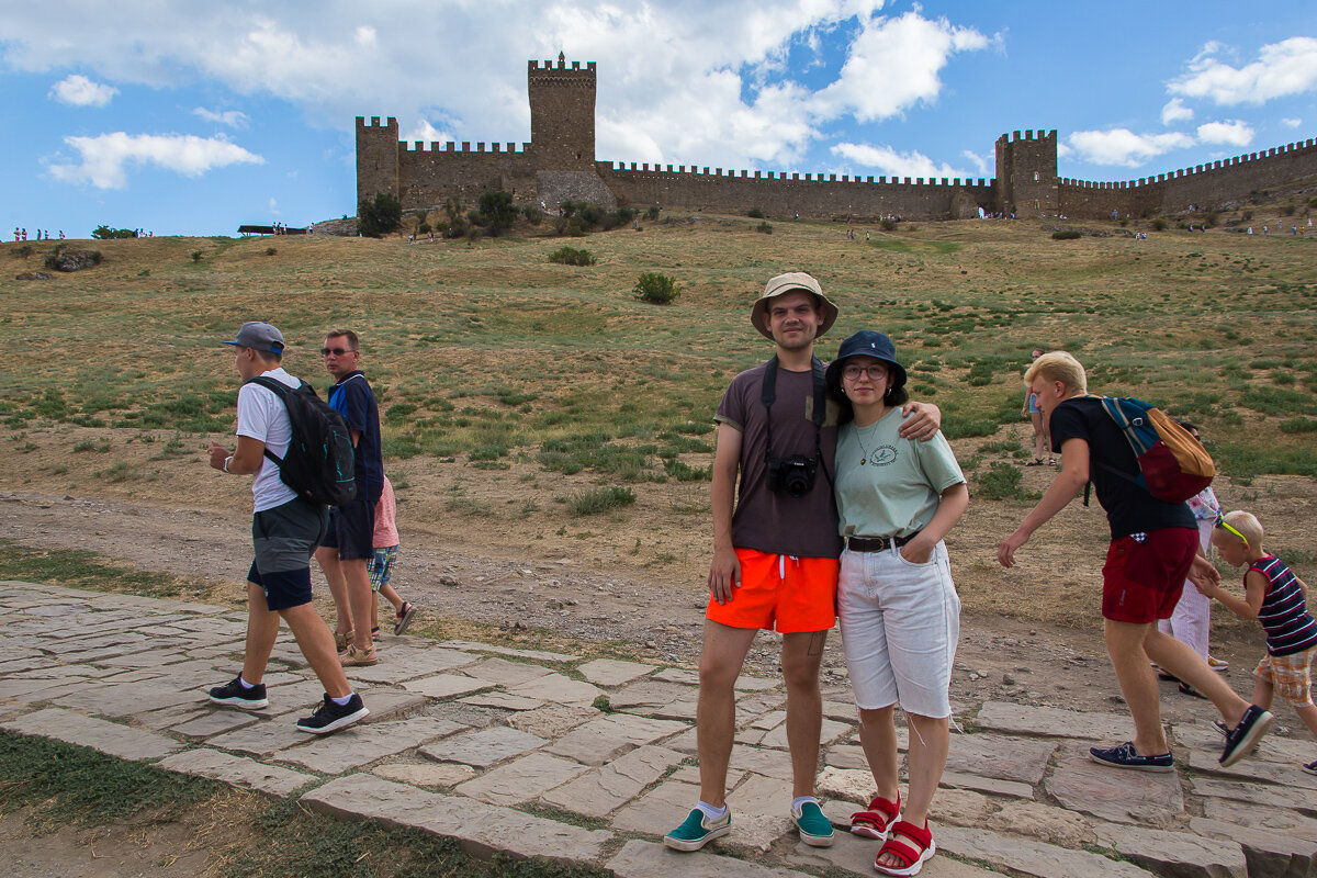
[{"label": "blue sky with white clouds above the fortress", "polygon": [[1133,180],[1317,137],[1317,12],[1198,0],[61,0],[0,11],[0,233],[356,213],[357,116],[529,140],[525,62],[598,63],[595,158]]}]

